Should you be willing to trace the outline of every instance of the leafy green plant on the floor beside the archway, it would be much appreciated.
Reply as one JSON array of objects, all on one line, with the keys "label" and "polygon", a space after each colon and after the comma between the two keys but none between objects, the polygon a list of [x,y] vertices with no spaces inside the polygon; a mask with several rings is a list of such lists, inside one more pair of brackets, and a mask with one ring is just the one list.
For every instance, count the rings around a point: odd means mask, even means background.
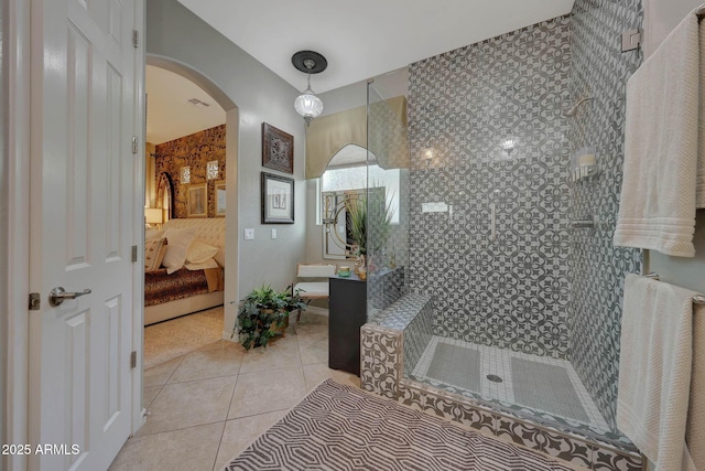
[{"label": "leafy green plant on the floor beside the archway", "polygon": [[275,291],[271,286],[262,285],[240,300],[230,338],[237,333],[245,350],[267,346],[272,338],[283,335],[289,325],[289,314],[297,309],[306,309],[299,291],[292,292],[291,287]]}]

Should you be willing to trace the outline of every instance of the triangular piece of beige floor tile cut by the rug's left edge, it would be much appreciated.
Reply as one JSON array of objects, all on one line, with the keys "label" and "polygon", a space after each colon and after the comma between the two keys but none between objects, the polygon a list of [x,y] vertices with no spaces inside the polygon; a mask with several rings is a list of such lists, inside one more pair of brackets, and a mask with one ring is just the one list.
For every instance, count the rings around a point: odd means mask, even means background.
[{"label": "triangular piece of beige floor tile cut by the rug's left edge", "polygon": [[259,416],[243,417],[241,419],[225,422],[223,440],[216,459],[216,470],[225,469],[230,460],[250,446],[268,428],[286,415],[286,410],[260,414]]}]

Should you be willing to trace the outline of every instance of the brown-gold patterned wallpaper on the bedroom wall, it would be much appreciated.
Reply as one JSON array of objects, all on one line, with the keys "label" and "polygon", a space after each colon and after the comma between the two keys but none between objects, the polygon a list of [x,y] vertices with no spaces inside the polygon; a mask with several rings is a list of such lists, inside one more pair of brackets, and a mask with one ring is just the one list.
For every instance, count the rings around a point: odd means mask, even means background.
[{"label": "brown-gold patterned wallpaper on the bedroom wall", "polygon": [[[206,163],[218,161],[218,176],[206,180]],[[215,217],[215,182],[225,180],[225,125],[156,146],[155,175],[167,172],[174,182],[174,217],[186,217],[188,185],[180,181],[180,169],[191,167],[191,183],[208,182],[208,217]]]}]

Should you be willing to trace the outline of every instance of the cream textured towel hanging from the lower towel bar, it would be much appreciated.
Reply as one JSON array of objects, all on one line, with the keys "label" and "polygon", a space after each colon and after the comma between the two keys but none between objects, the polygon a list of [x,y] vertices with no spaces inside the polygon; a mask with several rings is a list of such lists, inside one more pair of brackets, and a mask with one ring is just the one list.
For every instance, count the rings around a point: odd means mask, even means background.
[{"label": "cream textured towel hanging from the lower towel bar", "polygon": [[685,446],[694,295],[637,275],[625,281],[617,427],[657,471],[696,471]]}]

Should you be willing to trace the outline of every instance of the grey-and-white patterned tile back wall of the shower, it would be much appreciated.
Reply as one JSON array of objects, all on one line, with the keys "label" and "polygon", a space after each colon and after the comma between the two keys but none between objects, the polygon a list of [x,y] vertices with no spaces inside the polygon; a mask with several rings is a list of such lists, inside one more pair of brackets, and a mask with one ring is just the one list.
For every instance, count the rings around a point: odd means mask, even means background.
[{"label": "grey-and-white patterned tile back wall of the shower", "polygon": [[437,335],[567,354],[570,38],[563,17],[410,66],[406,275]]}]

